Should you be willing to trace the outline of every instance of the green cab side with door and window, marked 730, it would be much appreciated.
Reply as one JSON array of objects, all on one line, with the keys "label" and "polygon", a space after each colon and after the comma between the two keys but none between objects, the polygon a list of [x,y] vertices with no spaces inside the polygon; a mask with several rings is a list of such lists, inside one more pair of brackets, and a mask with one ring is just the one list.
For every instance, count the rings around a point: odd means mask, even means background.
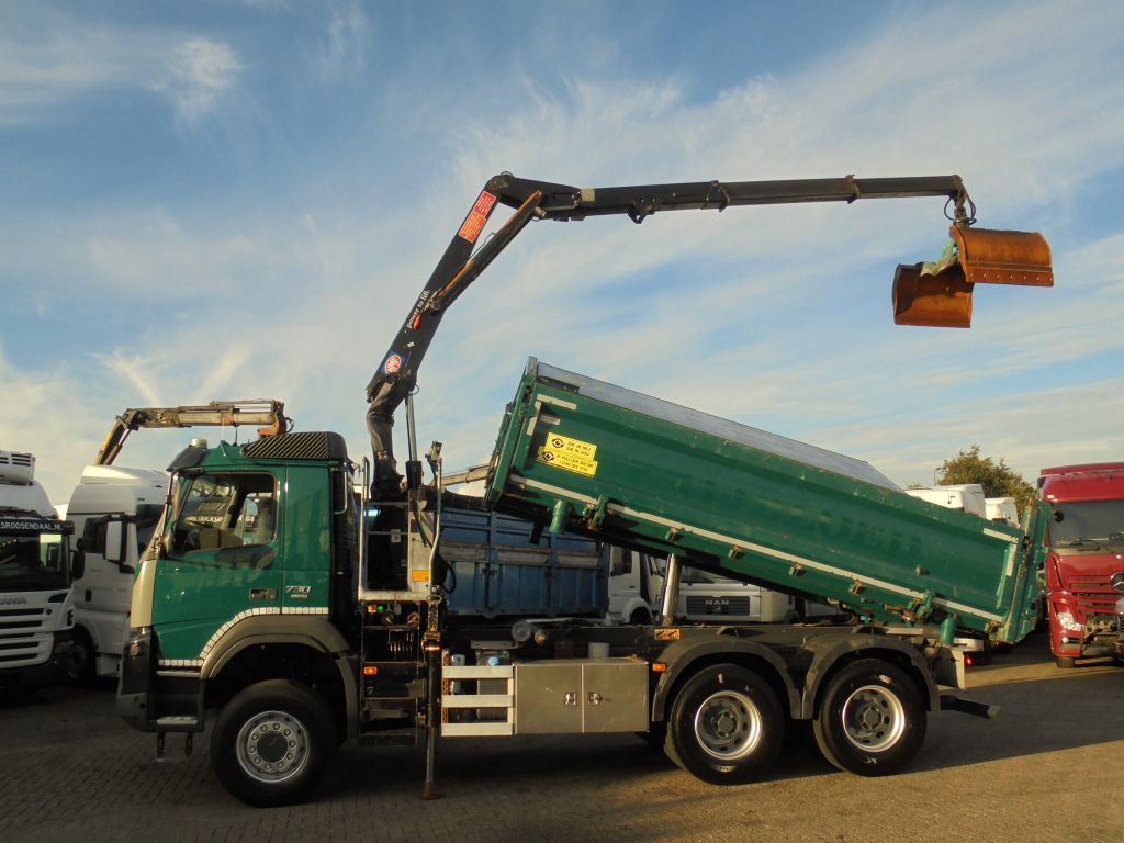
[{"label": "green cab side with door and window, marked 730", "polygon": [[161,664],[201,664],[248,617],[328,614],[329,478],[225,443],[176,477],[153,587]]}]

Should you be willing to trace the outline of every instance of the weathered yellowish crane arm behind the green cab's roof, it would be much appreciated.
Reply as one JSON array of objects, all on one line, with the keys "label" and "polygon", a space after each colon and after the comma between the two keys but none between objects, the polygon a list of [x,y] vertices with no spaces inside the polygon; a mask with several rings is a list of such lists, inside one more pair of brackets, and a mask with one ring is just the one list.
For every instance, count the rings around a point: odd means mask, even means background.
[{"label": "weathered yellowish crane arm behind the green cab's roof", "polygon": [[94,465],[111,465],[133,430],[142,427],[237,427],[262,425],[260,436],[285,433],[291,419],[284,415],[284,404],[273,399],[253,398],[237,401],[211,401],[182,407],[137,407],[118,416],[106,434]]}]

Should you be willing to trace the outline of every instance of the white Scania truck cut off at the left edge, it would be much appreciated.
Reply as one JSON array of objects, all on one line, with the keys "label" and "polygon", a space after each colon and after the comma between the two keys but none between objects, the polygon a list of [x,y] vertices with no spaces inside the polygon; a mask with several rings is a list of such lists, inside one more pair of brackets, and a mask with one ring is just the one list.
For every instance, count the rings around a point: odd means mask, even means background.
[{"label": "white Scania truck cut off at the left edge", "polygon": [[35,456],[0,451],[0,687],[22,691],[65,678],[71,532],[35,480]]}]

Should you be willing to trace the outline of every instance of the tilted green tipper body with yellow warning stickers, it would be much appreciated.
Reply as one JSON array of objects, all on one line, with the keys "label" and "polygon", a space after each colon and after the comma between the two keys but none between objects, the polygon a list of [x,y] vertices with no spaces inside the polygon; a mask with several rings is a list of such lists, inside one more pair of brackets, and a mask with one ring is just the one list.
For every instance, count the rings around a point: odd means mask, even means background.
[{"label": "tilted green tipper body with yellow warning stickers", "polygon": [[1032,535],[905,495],[860,460],[534,359],[492,454],[490,506],[876,623],[1034,624]]}]

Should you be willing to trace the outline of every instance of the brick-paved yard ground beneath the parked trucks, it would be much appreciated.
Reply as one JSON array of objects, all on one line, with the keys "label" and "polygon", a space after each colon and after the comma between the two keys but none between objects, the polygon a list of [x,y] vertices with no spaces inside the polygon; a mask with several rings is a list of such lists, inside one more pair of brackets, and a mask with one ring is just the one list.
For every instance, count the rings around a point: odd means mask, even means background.
[{"label": "brick-paved yard ground beneath the parked trucks", "polygon": [[1124,841],[1124,670],[1060,671],[1039,635],[970,672],[998,720],[930,720],[915,764],[836,772],[800,741],[764,781],[704,785],[631,735],[447,741],[437,801],[420,752],[354,750],[315,803],[247,808],[207,741],[154,760],[108,687],[0,704],[0,841]]}]

